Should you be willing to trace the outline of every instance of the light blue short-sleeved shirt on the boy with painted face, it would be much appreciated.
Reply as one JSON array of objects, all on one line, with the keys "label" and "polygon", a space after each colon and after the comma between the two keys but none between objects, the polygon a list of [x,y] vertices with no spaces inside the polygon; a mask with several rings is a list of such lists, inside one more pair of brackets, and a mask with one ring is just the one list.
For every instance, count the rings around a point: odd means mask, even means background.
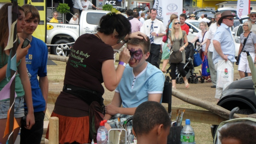
[{"label": "light blue short-sleeved shirt on the boy with painted face", "polygon": [[[138,76],[134,76],[133,68],[126,65],[115,92],[120,93],[124,108],[135,108],[142,102],[148,101],[148,94],[163,93],[163,90],[163,72],[148,63],[147,67]],[[160,102],[162,102],[162,98]]]}]

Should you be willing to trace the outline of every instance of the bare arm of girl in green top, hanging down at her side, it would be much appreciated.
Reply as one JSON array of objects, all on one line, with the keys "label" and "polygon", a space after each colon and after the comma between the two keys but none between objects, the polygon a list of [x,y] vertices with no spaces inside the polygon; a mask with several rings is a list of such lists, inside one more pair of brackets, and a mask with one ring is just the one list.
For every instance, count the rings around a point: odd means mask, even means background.
[{"label": "bare arm of girl in green top, hanging down at her side", "polygon": [[24,100],[28,108],[28,115],[26,118],[27,126],[25,128],[31,129],[32,126],[35,124],[35,117],[34,117],[34,108],[33,108],[33,102],[32,102],[31,85],[28,78],[25,60],[26,60],[25,57],[21,59],[20,65],[18,66],[18,72],[20,74],[21,84],[23,85],[23,89],[25,91]]}]

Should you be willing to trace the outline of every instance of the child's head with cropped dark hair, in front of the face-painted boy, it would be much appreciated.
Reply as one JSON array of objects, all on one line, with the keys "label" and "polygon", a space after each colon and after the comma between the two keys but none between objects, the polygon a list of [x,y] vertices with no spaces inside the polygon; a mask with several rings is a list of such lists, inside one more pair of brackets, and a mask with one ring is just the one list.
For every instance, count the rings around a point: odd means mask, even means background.
[{"label": "child's head with cropped dark hair, in front of the face-painted boy", "polygon": [[140,104],[133,115],[132,125],[132,133],[137,138],[137,144],[167,143],[171,121],[160,103],[146,101]]}]

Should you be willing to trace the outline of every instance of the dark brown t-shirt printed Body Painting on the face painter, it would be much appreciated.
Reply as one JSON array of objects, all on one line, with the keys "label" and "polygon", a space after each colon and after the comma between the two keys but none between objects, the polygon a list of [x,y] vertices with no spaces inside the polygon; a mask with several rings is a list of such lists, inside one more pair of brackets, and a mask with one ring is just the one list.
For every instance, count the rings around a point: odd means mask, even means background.
[{"label": "dark brown t-shirt printed Body Painting on the face painter", "polygon": [[64,84],[104,93],[102,62],[114,59],[113,48],[93,34],[79,36],[71,49]]}]

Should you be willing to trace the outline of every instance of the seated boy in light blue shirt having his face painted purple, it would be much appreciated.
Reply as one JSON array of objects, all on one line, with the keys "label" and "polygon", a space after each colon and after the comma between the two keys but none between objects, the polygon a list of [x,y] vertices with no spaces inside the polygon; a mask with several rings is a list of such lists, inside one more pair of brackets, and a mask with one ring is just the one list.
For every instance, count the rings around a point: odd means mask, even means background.
[{"label": "seated boy in light blue shirt having his face painted purple", "polygon": [[[146,62],[150,51],[150,40],[131,39],[127,43],[131,59],[124,69],[122,79],[115,90],[114,97],[106,106],[105,127],[120,128],[121,124],[132,116],[135,109],[145,101],[162,101],[164,74],[161,70]],[[123,105],[123,107],[121,107]],[[131,129],[128,123],[127,128]]]}]

